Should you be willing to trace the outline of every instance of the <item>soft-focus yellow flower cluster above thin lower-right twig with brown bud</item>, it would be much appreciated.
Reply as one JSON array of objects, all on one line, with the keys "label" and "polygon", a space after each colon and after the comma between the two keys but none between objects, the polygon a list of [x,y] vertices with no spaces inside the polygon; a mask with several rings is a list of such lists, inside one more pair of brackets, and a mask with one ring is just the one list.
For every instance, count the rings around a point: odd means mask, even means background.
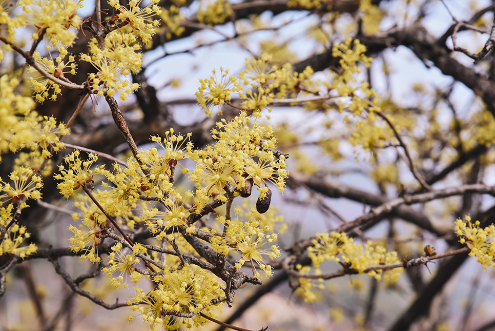
[{"label": "soft-focus yellow flower cluster above thin lower-right twig with brown bud", "polygon": [[[397,259],[397,252],[387,251],[385,247],[373,245],[371,241],[368,241],[364,246],[356,244],[345,233],[318,233],[316,238],[313,240],[313,246],[308,247],[307,250],[308,256],[318,272],[320,272],[320,264],[327,260],[345,263],[347,267],[359,273],[364,272],[370,266],[400,263]],[[400,269],[396,268],[385,272],[378,269],[369,271],[367,275],[380,280],[383,274],[384,279],[395,280],[400,276]]]}]

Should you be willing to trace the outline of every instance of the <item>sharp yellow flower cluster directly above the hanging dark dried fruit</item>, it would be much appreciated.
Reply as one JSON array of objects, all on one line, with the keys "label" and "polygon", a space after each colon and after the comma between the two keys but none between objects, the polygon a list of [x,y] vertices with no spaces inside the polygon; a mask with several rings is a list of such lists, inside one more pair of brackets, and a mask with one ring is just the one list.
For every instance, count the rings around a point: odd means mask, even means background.
[{"label": "sharp yellow flower cluster directly above the hanging dark dried fruit", "polygon": [[218,130],[212,130],[216,143],[195,151],[192,159],[197,167],[191,173],[191,180],[197,182],[198,205],[206,203],[212,194],[218,194],[218,199],[226,201],[225,187],[235,186],[234,195],[237,196],[248,181],[248,185],[257,186],[261,199],[269,189],[267,182],[274,183],[283,192],[288,172],[284,155],[277,158],[271,150],[276,141],[273,130],[256,122],[250,126],[249,121],[249,116],[241,112],[228,123],[225,120],[218,122]]}]

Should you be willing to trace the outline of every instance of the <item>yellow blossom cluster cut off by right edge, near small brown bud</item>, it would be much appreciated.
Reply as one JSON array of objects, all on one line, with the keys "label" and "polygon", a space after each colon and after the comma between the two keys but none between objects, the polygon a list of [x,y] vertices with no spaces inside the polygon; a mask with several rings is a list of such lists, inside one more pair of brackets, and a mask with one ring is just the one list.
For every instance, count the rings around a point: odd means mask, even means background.
[{"label": "yellow blossom cluster cut off by right edge, near small brown bud", "polygon": [[486,269],[489,266],[495,268],[495,225],[490,224],[484,229],[480,228],[480,221],[471,223],[469,216],[465,217],[464,222],[457,219],[455,230],[457,235],[461,237],[461,244],[466,244],[471,250],[469,256],[476,256],[476,261],[483,265]]}]

